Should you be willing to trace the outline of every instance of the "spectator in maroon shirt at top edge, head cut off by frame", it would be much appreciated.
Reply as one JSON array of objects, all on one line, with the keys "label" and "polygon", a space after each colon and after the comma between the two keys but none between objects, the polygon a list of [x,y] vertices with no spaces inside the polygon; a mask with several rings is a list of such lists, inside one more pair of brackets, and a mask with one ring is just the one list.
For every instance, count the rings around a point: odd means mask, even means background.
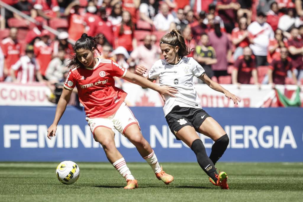
[{"label": "spectator in maroon shirt at top edge, head cut off by frame", "polygon": [[241,5],[236,0],[218,0],[217,9],[218,14],[224,22],[224,27],[227,33],[231,33],[235,28],[235,22],[237,20],[237,10],[241,8]]}]

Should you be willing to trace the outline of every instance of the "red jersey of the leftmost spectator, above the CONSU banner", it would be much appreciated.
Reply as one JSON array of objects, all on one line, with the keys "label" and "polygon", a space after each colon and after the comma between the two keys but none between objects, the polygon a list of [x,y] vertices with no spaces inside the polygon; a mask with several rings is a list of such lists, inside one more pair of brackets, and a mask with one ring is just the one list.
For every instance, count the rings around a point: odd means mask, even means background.
[{"label": "red jersey of the leftmost spectator, above the CONSU banner", "polygon": [[6,68],[10,69],[20,58],[21,45],[11,38],[5,38],[1,42],[2,52],[5,58]]}]

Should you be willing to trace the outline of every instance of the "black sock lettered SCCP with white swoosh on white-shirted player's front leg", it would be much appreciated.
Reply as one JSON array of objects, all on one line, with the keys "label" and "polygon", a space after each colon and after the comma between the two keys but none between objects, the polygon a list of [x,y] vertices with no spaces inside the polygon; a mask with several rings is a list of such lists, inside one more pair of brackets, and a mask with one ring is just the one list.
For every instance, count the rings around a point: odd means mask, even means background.
[{"label": "black sock lettered SCCP with white swoosh on white-shirted player's front leg", "polygon": [[215,177],[217,173],[214,163],[207,156],[205,147],[200,139],[196,139],[191,144],[191,150],[195,152],[197,156],[197,161],[202,170],[213,179],[215,182],[217,178]]}]

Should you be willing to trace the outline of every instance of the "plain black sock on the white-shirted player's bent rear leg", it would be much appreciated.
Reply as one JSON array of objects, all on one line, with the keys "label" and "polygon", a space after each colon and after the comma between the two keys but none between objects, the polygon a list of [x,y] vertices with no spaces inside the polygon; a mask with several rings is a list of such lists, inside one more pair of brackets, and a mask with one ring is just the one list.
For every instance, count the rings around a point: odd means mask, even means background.
[{"label": "plain black sock on the white-shirted player's bent rear leg", "polygon": [[222,137],[220,137],[217,141],[215,141],[215,143],[212,145],[211,154],[209,158],[214,163],[214,165],[217,163],[219,158],[221,158],[221,156],[224,154],[228,146],[228,143],[229,143],[229,138],[227,134],[225,134]]}]

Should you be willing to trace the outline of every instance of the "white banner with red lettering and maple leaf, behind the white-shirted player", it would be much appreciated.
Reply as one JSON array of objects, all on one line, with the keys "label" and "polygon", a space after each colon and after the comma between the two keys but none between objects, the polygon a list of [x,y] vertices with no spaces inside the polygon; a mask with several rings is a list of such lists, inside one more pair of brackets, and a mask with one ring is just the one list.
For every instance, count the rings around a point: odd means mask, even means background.
[{"label": "white banner with red lettering and maple leaf, behind the white-shirted player", "polygon": [[[272,107],[275,106],[273,102],[276,102],[275,90],[270,85],[262,85],[261,89],[258,89],[256,85],[241,85],[238,88],[232,84],[222,84],[222,86],[237,95],[241,102],[237,105],[232,100],[225,97],[224,94],[214,91],[206,84],[196,84],[198,96],[200,98],[200,104],[202,107]],[[295,90],[298,88],[296,85],[276,85],[282,93],[287,91],[287,96],[292,98],[295,95]],[[142,89],[140,86],[132,83],[124,83],[123,90],[128,93],[126,102],[129,106],[155,106],[162,107],[163,101],[161,96],[151,90]],[[303,101],[303,93],[300,94],[301,101]]]}]

